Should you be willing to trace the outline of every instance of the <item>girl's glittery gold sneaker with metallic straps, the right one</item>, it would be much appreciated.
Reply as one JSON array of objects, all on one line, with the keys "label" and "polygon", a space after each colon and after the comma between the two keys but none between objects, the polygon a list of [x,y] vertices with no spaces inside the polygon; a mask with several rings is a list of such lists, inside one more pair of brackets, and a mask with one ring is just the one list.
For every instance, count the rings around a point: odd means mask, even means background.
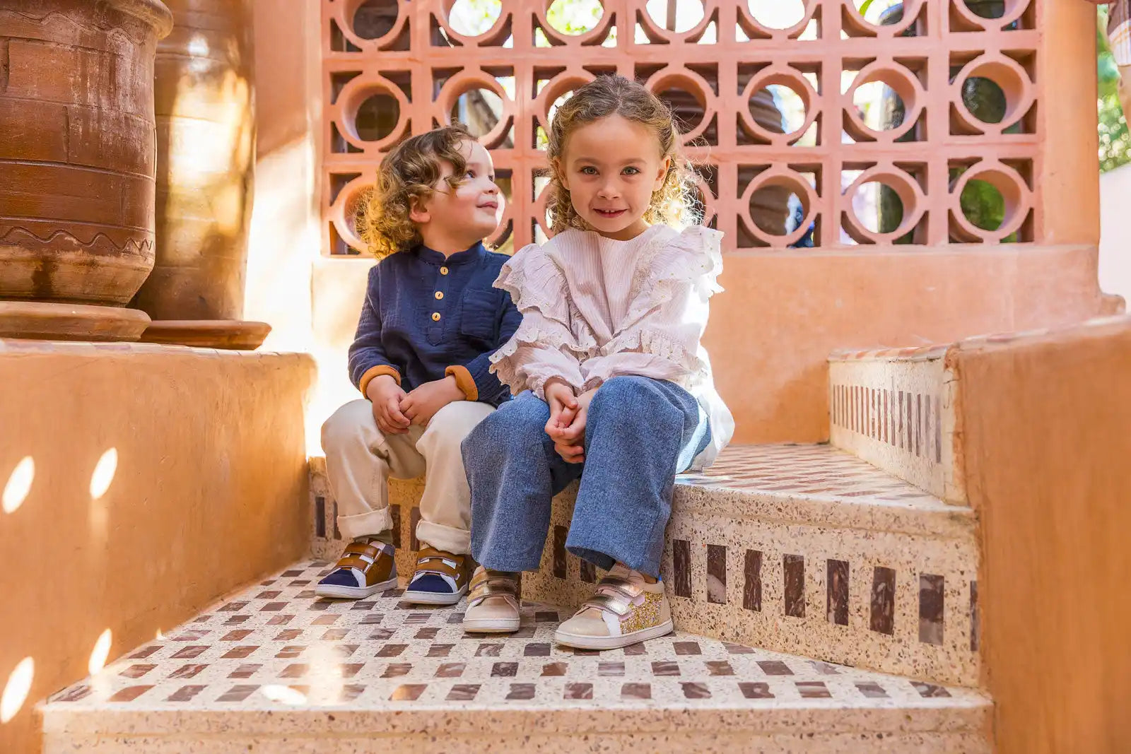
[{"label": "girl's glittery gold sneaker with metallic straps, the right one", "polygon": [[554,640],[578,649],[618,649],[672,632],[664,582],[648,583],[615,565],[573,617],[558,626]]}]

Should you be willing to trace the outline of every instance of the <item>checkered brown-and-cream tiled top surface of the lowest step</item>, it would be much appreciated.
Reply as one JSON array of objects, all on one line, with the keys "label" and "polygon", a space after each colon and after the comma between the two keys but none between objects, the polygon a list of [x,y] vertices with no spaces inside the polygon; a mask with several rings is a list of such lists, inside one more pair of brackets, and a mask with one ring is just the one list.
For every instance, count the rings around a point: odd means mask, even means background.
[{"label": "checkered brown-and-cream tiled top surface of the lowest step", "polygon": [[607,652],[554,644],[553,607],[526,603],[511,636],[463,632],[463,604],[418,608],[312,591],[295,565],[51,697],[52,709],[268,710],[414,705],[506,709],[694,705],[915,708],[979,703],[969,691],[687,634]]}]

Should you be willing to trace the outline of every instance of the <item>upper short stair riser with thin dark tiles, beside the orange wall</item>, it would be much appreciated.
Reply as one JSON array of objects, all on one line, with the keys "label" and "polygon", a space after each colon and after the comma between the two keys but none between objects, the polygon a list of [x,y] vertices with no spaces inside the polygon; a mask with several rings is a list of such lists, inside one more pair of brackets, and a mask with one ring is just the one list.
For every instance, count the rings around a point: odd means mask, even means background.
[{"label": "upper short stair riser with thin dark tiles, beside the orange wall", "polygon": [[906,358],[875,352],[829,362],[830,440],[955,504],[966,504],[956,424],[958,381],[946,350]]}]

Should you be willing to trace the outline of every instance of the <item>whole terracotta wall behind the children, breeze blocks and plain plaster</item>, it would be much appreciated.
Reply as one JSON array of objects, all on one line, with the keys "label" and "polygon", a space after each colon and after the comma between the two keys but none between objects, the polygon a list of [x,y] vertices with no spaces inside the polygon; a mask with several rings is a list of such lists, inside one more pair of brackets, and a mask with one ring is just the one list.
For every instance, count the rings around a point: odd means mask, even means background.
[{"label": "whole terracotta wall behind the children, breeze blocks and plain plaster", "polygon": [[[657,19],[644,0],[606,0],[592,28],[567,34],[547,3],[478,0],[469,36],[455,28],[467,1],[319,0],[314,332],[334,379],[361,303],[338,292],[360,291],[366,267],[352,216],[382,155],[452,114],[468,121],[508,198],[494,240],[520,249],[545,235],[539,131],[560,97],[605,72],[672,105],[703,222],[726,234],[705,344],[737,442],[827,440],[835,349],[1102,311],[1087,2],[908,0],[881,24],[890,3],[862,17],[855,0],[805,0],[775,28],[786,0],[706,0],[672,29],[663,6]],[[975,12],[991,6],[998,18]],[[877,87],[887,98],[871,114],[887,114],[862,118],[854,101]],[[975,181],[1000,194],[1000,226],[966,216],[962,192],[985,190]]]}]

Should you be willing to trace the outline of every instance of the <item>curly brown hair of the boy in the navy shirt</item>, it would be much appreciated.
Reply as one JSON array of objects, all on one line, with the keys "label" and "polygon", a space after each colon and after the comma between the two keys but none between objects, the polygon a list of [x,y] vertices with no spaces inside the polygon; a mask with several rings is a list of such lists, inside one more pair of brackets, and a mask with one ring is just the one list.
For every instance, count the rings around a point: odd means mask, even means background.
[{"label": "curly brown hair of the boy in the navy shirt", "polygon": [[442,163],[452,167],[448,185],[455,189],[463,183],[467,161],[459,148],[464,141],[475,141],[475,137],[463,123],[452,123],[406,139],[386,155],[377,184],[365,192],[357,210],[357,231],[370,253],[383,259],[421,243],[408,213],[414,201],[435,191]]}]

